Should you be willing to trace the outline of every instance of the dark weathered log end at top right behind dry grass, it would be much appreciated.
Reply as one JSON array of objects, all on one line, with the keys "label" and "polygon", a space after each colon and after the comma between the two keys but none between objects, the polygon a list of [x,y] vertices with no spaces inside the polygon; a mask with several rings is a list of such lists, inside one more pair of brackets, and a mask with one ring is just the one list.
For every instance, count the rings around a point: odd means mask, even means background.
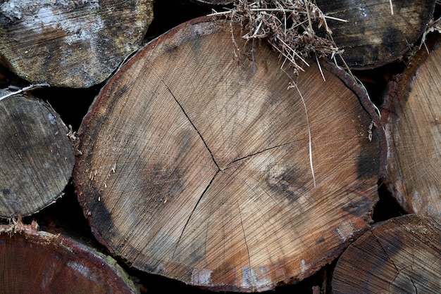
[{"label": "dark weathered log end at top right behind dry grass", "polygon": [[333,39],[344,49],[342,58],[349,68],[367,70],[391,63],[409,51],[433,18],[435,2],[317,0],[317,6],[325,15],[347,20],[328,19]]}]

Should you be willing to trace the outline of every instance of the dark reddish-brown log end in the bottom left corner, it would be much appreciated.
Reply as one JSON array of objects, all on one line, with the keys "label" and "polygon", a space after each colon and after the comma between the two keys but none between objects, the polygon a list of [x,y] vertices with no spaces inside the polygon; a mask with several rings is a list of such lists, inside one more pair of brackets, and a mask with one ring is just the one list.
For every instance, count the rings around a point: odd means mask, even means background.
[{"label": "dark reddish-brown log end in the bottom left corner", "polygon": [[0,293],[139,293],[112,257],[36,222],[0,226]]}]

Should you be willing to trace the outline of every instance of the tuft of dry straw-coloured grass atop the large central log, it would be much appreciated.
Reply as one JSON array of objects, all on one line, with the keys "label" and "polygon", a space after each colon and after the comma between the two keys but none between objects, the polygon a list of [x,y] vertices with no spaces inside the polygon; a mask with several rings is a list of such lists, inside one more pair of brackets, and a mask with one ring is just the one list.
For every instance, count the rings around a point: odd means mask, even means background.
[{"label": "tuft of dry straw-coloured grass atop the large central log", "polygon": [[[226,15],[240,23],[246,32],[241,36],[244,39],[266,39],[285,61],[289,61],[294,74],[299,75],[299,71],[303,71],[302,66],[309,66],[306,58],[335,58],[342,53],[335,45],[332,31],[326,23],[331,17],[324,15],[314,2],[235,0],[230,11],[211,15]],[[316,30],[322,30],[324,37],[318,36]]]}]

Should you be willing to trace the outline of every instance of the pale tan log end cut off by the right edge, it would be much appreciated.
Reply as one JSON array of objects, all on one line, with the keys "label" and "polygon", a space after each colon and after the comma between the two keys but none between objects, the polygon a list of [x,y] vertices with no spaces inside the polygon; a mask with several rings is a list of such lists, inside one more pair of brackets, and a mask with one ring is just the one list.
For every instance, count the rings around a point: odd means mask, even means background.
[{"label": "pale tan log end cut off by the right edge", "polygon": [[436,43],[390,83],[382,119],[388,141],[385,184],[407,212],[441,220],[441,38]]}]

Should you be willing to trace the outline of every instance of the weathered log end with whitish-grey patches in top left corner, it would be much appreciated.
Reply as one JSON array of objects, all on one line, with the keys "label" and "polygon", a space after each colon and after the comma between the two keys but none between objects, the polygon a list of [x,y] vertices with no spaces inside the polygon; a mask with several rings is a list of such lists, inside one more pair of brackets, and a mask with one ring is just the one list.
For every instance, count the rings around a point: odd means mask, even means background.
[{"label": "weathered log end with whitish-grey patches in top left corner", "polygon": [[139,49],[153,1],[1,1],[1,63],[30,82],[91,87]]}]

